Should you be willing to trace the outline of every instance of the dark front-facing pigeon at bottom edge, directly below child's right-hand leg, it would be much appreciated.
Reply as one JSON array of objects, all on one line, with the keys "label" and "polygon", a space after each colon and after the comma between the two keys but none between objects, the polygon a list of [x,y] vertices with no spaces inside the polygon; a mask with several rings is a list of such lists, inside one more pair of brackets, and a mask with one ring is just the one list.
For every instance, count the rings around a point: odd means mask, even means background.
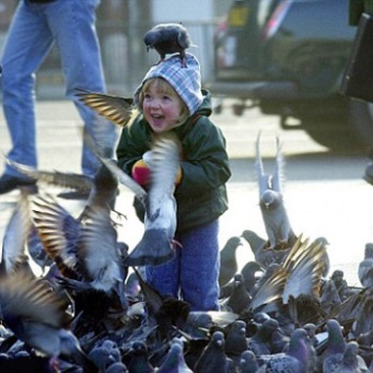
[{"label": "dark front-facing pigeon at bottom edge, directly below child's right-hand leg", "polygon": [[210,342],[203,349],[193,371],[195,373],[226,373],[229,361],[224,351],[224,334],[220,330],[214,331],[211,336]]}]

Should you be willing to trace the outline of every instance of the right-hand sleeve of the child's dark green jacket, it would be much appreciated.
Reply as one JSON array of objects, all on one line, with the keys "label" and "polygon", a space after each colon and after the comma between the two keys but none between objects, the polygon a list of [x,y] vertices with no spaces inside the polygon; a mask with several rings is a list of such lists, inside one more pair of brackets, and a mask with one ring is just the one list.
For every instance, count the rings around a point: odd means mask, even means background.
[{"label": "right-hand sleeve of the child's dark green jacket", "polygon": [[183,178],[176,196],[200,195],[231,176],[225,138],[208,117],[201,117],[183,139]]}]

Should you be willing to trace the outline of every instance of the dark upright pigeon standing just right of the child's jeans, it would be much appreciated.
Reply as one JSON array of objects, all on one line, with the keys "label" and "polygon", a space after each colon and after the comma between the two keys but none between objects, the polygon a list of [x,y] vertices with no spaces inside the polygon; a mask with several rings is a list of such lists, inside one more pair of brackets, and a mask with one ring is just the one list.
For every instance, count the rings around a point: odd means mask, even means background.
[{"label": "dark upright pigeon standing just right of the child's jeans", "polygon": [[236,249],[242,245],[241,238],[237,236],[230,237],[224,247],[220,252],[220,272],[219,285],[228,283],[237,272],[238,265],[236,260]]}]

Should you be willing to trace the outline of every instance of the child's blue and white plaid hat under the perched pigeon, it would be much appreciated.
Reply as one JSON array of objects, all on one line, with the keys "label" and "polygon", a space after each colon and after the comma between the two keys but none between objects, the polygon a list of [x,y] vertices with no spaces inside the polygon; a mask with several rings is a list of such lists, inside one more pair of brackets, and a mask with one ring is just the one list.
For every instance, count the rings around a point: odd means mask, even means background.
[{"label": "child's blue and white plaid hat under the perched pigeon", "polygon": [[199,62],[191,54],[186,54],[186,67],[183,67],[179,55],[173,55],[152,66],[135,92],[136,103],[139,103],[143,83],[151,78],[166,80],[187,105],[189,115],[195,114],[203,101]]}]

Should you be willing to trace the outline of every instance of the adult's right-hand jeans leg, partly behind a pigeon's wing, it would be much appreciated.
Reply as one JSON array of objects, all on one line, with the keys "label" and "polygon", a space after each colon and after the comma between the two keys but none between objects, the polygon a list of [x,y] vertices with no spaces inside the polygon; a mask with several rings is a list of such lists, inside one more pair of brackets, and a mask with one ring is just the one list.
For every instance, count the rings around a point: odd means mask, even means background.
[{"label": "adult's right-hand jeans leg, partly behind a pigeon's wing", "polygon": [[[100,0],[56,0],[47,9],[49,27],[59,49],[66,78],[67,96],[72,98],[84,123],[84,131],[97,139],[112,156],[117,139],[115,125],[98,116],[75,96],[77,89],[105,92],[100,44],[95,32],[95,11]],[[83,143],[82,172],[95,174],[98,161]]]}]

